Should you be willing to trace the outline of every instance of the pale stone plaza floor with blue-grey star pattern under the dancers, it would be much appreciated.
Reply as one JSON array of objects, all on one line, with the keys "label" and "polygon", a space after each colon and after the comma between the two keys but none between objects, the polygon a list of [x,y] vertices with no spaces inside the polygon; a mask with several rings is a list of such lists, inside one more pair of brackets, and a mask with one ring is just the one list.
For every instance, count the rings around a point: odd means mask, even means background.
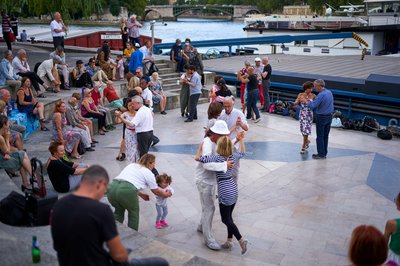
[{"label": "pale stone plaza floor with blue-grey star pattern under the dancers", "polygon": [[[206,108],[207,104],[199,106],[199,120],[193,123],[184,123],[178,109],[155,115],[155,134],[161,141],[151,153],[157,157],[157,169],[172,176],[175,189],[168,199],[170,226],[154,227],[154,195],[150,202],[141,201],[135,242],[139,251],[132,256],[159,254],[172,265],[182,265],[176,259],[182,254],[208,260],[192,260],[190,265],[348,265],[347,245],[355,226],[367,223],[383,230],[387,219],[399,216],[392,200],[400,190],[398,139],[384,141],[374,133],[332,129],[328,158],[313,160],[315,131],[309,152],[301,155],[298,121],[263,113],[260,123],[249,121],[234,211],[235,222],[251,243],[249,252],[241,256],[237,242],[232,251],[209,250],[196,231],[200,202],[193,159],[204,134]],[[101,164],[111,177],[117,176],[127,165],[115,160],[121,128],[97,136],[96,152],[86,153],[83,161]],[[25,145],[29,154],[46,161],[49,137],[48,132],[35,133]],[[218,207],[213,227],[217,240],[223,242],[226,228]],[[123,228],[122,235],[130,231]],[[140,250],[143,237],[154,240],[146,250]],[[49,250],[44,252],[54,254],[51,241],[46,247]]]}]

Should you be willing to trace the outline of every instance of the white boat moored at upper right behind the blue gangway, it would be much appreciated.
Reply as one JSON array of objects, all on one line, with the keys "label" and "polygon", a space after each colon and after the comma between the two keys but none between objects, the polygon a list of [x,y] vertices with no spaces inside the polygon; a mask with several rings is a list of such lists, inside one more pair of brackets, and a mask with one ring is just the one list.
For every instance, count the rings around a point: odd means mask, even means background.
[{"label": "white boat moored at upper right behind the blue gangway", "polygon": [[[341,6],[337,13],[348,16],[252,16],[245,19],[248,37],[318,34],[351,31],[368,47],[355,39],[322,39],[254,46],[260,54],[284,53],[302,55],[395,54],[400,51],[400,0],[365,0],[363,6]],[[356,16],[353,16],[356,15]]]}]

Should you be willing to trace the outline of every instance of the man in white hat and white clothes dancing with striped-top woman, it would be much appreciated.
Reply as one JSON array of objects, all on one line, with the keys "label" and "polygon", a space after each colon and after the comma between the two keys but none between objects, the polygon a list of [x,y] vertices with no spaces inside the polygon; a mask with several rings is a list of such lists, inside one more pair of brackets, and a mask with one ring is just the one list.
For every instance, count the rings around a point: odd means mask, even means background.
[{"label": "man in white hat and white clothes dancing with striped-top woman", "polygon": [[[215,121],[210,128],[209,136],[204,138],[201,146],[202,155],[214,155],[216,152],[216,142],[223,135],[229,135],[229,129],[222,120]],[[219,250],[221,246],[214,238],[212,232],[212,220],[215,212],[215,189],[217,178],[215,172],[226,172],[228,167],[232,167],[232,161],[223,163],[198,163],[195,170],[196,186],[200,194],[201,219],[197,228],[198,232],[203,233],[204,242],[209,249]]]}]

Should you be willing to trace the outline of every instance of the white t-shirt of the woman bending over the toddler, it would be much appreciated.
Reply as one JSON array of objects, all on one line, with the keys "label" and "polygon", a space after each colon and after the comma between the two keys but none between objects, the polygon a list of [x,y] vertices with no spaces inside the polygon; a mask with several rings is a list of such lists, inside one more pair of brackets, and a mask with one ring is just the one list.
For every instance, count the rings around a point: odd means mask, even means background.
[{"label": "white t-shirt of the woman bending over the toddler", "polygon": [[136,163],[131,163],[125,167],[115,179],[125,180],[138,190],[158,188],[154,174],[148,168]]}]

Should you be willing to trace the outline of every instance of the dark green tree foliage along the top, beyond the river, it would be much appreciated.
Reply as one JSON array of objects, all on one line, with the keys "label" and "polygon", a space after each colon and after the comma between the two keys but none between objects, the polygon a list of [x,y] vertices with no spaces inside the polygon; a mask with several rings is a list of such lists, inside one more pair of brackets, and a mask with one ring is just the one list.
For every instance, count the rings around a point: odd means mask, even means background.
[{"label": "dark green tree foliage along the top, beyond the river", "polygon": [[[352,0],[353,4],[362,4],[363,0]],[[176,4],[220,4],[220,5],[256,5],[263,13],[276,13],[282,11],[285,5],[308,4],[311,10],[321,12],[325,3],[333,7],[346,5],[348,0],[177,0]],[[142,15],[146,5],[165,5],[168,0],[1,0],[0,9],[18,16],[30,17],[51,15],[60,11],[65,19],[80,19],[92,14],[102,14],[109,8],[113,15],[118,15],[120,7],[126,7],[128,12]]]}]

